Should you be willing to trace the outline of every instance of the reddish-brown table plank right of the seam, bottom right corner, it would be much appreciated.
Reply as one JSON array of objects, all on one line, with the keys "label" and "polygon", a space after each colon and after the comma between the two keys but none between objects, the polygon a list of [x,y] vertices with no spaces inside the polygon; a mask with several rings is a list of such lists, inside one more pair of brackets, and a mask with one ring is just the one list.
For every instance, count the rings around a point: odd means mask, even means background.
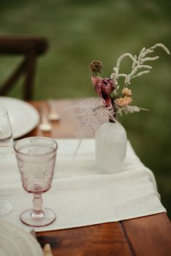
[{"label": "reddish-brown table plank right of the seam, bottom right corner", "polygon": [[171,255],[171,226],[165,213],[123,220],[121,224],[134,255]]}]

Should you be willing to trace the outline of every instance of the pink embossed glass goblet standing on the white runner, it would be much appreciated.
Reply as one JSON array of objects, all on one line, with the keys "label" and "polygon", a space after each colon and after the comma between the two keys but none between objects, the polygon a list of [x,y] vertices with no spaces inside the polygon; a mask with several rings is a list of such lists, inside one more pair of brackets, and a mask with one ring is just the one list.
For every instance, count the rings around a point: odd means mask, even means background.
[{"label": "pink embossed glass goblet standing on the white runner", "polygon": [[46,226],[57,218],[53,210],[42,207],[41,197],[51,188],[57,147],[54,139],[46,137],[29,137],[14,144],[22,186],[33,194],[33,208],[20,215],[28,226]]}]

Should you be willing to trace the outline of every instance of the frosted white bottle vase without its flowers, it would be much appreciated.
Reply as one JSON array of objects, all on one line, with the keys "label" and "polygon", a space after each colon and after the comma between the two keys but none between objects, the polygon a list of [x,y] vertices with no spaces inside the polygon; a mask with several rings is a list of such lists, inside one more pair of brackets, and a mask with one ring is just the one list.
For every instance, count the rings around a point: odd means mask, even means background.
[{"label": "frosted white bottle vase without its flowers", "polygon": [[104,123],[96,132],[96,163],[99,173],[122,170],[127,151],[127,134],[118,122]]}]

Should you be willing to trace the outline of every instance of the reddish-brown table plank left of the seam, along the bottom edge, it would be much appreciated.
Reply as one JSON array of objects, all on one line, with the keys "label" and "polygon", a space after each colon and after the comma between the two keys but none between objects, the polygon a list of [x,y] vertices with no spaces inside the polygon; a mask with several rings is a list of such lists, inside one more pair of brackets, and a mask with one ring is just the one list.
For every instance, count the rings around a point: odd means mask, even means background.
[{"label": "reddish-brown table plank left of the seam, along the bottom edge", "polygon": [[51,244],[54,256],[132,255],[120,223],[40,232],[37,239],[42,247]]}]

